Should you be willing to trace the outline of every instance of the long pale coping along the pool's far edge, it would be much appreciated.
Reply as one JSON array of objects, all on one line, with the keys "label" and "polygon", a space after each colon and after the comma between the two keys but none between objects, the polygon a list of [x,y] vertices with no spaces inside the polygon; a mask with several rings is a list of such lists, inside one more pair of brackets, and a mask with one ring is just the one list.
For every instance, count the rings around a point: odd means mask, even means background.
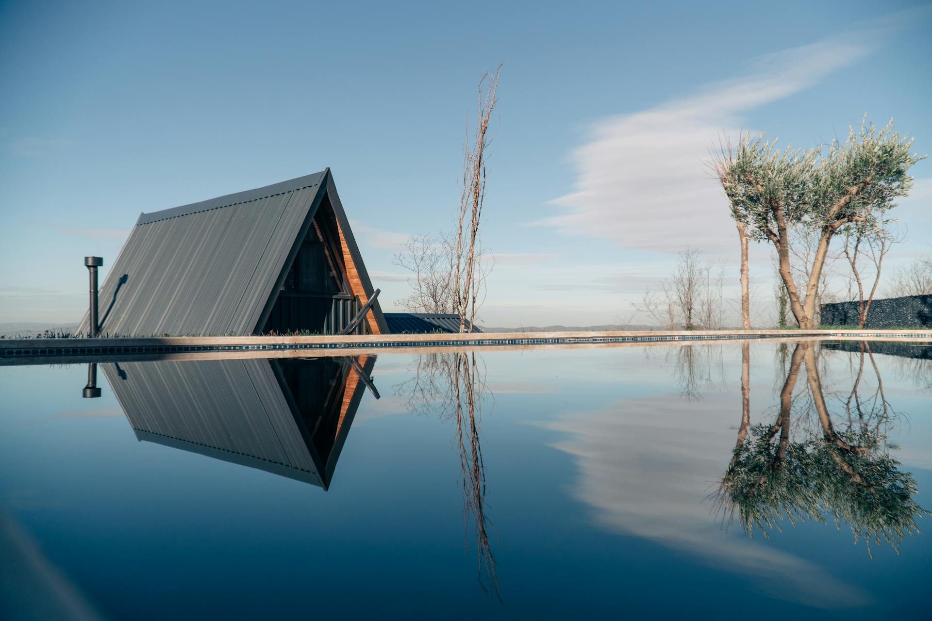
[{"label": "long pale coping along the pool's far edge", "polygon": [[394,353],[443,353],[463,348],[517,350],[642,346],[744,340],[857,340],[932,343],[932,331],[567,331],[472,334],[365,334],[349,336],[163,336],[0,339],[0,365],[63,364],[106,360],[203,358],[308,358]]}]

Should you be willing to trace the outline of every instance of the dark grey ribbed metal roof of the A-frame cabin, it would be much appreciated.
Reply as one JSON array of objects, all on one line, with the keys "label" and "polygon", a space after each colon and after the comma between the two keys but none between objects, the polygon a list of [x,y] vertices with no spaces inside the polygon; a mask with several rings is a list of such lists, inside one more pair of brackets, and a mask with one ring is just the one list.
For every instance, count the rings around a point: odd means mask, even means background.
[{"label": "dark grey ribbed metal roof of the A-frame cabin", "polygon": [[[101,333],[249,335],[265,324],[324,198],[368,299],[372,283],[326,169],[287,182],[141,214],[100,292]],[[387,332],[376,303],[378,331]],[[88,332],[88,316],[78,331]]]}]

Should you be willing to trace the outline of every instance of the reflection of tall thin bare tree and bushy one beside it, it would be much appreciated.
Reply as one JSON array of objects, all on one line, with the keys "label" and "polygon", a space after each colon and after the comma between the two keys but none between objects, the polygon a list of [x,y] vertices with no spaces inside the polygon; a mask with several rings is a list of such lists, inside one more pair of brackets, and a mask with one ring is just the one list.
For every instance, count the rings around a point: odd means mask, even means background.
[{"label": "reflection of tall thin bare tree and bushy one beside it", "polygon": [[[485,368],[475,353],[425,354],[418,357],[411,379],[395,386],[406,398],[409,412],[435,413],[457,427],[457,449],[462,473],[463,516],[469,529],[473,523],[478,555],[478,581],[501,600],[495,556],[489,543],[492,526],[486,514],[486,466],[482,458],[479,432],[482,401],[487,397]],[[490,393],[488,394],[490,396]]]}]

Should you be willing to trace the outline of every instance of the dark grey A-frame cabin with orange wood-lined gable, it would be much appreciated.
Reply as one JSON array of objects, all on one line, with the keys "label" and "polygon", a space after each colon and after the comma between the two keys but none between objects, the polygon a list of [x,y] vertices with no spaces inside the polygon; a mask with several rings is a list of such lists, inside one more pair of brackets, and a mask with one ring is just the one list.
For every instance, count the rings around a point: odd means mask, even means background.
[{"label": "dark grey A-frame cabin with orange wood-lined gable", "polygon": [[[337,333],[373,294],[326,169],[140,215],[103,282],[100,331]],[[355,332],[388,331],[376,300]]]}]

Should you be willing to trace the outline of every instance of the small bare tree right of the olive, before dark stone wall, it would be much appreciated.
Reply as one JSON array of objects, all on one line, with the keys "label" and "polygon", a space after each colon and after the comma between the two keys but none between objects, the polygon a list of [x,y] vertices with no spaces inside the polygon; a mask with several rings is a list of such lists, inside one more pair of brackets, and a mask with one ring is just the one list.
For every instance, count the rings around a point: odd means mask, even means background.
[{"label": "small bare tree right of the olive, before dark stone wall", "polygon": [[[890,248],[902,240],[902,236],[890,227],[890,221],[878,223],[875,226],[853,226],[844,231],[844,258],[851,266],[851,277],[848,280],[848,299],[853,295],[852,281],[857,285],[857,327],[863,328],[868,320],[870,304],[873,302],[877,285],[880,283],[881,270],[884,267],[884,256]],[[863,260],[863,261],[862,261]],[[870,291],[865,297],[865,266],[869,263],[868,275],[873,277]]]}]

